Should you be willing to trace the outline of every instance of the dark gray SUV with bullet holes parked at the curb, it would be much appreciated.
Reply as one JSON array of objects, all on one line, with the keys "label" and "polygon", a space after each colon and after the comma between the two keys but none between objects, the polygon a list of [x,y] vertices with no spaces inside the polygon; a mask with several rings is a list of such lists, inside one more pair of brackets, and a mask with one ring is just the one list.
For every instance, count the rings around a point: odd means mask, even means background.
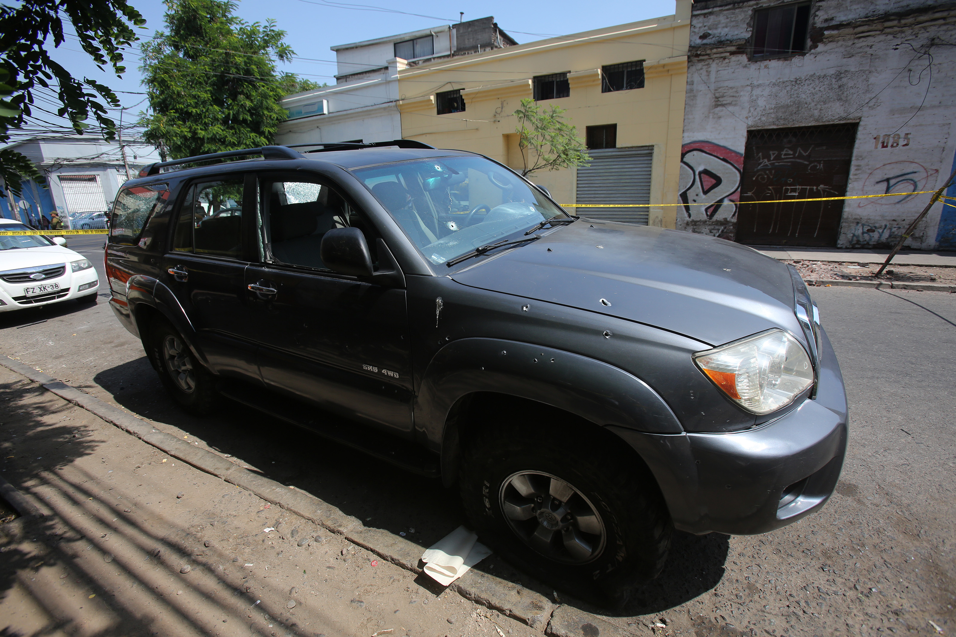
[{"label": "dark gray SUV with bullet holes parked at the curb", "polygon": [[836,355],[796,271],[750,247],[576,217],[408,140],[153,164],[110,228],[110,305],[183,407],[457,486],[556,585],[619,598],[672,529],[765,533],[836,486]]}]

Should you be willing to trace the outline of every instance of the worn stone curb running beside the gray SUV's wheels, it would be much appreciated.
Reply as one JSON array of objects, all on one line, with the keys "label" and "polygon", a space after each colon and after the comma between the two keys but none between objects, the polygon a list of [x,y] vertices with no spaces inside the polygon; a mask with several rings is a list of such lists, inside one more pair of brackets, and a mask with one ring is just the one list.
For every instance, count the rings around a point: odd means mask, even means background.
[{"label": "worn stone curb running beside the gray SUV's wheels", "polygon": [[[11,358],[0,358],[0,365],[39,383],[45,390],[96,414],[100,419],[115,425],[127,434],[140,438],[165,454],[182,460],[207,474],[221,478],[246,489],[259,498],[276,504],[291,513],[310,520],[325,529],[344,536],[346,540],[375,553],[381,559],[401,566],[416,575],[424,549],[418,544],[384,529],[366,527],[358,518],[342,513],[336,506],[298,490],[291,490],[270,478],[264,478],[249,469],[243,469],[205,449],[190,445],[178,437],[157,431],[151,424],[134,414],[122,411],[89,393],[80,392],[53,376],[38,372],[32,367]],[[43,515],[16,489],[0,478],[0,494],[16,504],[8,495],[6,486],[30,508],[29,514]],[[449,586],[470,602],[483,605],[508,615],[522,624],[551,637],[591,637],[601,635],[617,637],[632,634],[607,620],[567,605],[556,605],[544,595],[518,584],[512,584],[488,573],[468,571],[460,580]]]}]

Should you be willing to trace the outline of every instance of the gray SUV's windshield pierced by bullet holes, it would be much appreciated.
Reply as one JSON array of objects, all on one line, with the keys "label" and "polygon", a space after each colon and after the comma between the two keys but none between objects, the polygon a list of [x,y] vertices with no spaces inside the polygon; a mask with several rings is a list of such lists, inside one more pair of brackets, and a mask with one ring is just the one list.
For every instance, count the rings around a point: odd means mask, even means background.
[{"label": "gray SUV's windshield pierced by bullet holes", "polygon": [[[483,158],[402,161],[354,171],[433,264],[571,219],[543,193]],[[511,236],[515,235],[515,236]]]}]

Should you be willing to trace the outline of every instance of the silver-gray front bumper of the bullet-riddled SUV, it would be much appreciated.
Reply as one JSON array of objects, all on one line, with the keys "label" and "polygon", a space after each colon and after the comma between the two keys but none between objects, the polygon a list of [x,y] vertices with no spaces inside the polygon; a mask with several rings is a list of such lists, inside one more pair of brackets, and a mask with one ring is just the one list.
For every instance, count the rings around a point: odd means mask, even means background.
[{"label": "silver-gray front bumper of the bullet-riddled SUV", "polygon": [[826,333],[814,400],[733,434],[655,435],[609,428],[658,480],[674,526],[690,533],[766,533],[823,507],[847,443],[843,378]]}]

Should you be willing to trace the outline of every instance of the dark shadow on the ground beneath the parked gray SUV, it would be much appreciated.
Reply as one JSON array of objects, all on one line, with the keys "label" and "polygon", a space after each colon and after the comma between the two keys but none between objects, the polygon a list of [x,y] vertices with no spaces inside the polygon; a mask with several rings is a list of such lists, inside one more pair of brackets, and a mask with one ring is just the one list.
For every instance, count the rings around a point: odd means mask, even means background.
[{"label": "dark shadow on the ground beneath the parked gray SUV", "polygon": [[[99,372],[95,381],[122,407],[149,417],[161,430],[198,438],[210,451],[233,457],[243,467],[334,504],[366,526],[404,533],[423,551],[465,521],[457,490],[445,489],[439,480],[406,473],[228,400],[222,402],[218,414],[198,417],[185,413],[168,397],[145,356]],[[276,400],[284,399],[276,396]],[[561,602],[602,615],[661,612],[716,586],[723,577],[727,555],[727,536],[675,533],[662,575],[636,591],[623,608],[609,611],[566,595],[561,595]],[[552,586],[497,556],[475,568],[554,598]]]}]

